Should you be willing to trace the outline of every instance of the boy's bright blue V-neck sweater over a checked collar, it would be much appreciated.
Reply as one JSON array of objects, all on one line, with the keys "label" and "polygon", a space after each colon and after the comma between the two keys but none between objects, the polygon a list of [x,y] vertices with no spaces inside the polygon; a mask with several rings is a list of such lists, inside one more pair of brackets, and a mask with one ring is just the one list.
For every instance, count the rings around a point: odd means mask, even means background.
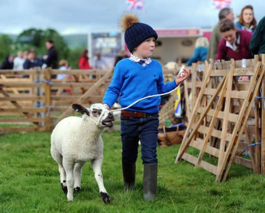
[{"label": "boy's bright blue V-neck sweater over a checked collar", "polygon": [[[124,108],[142,97],[165,93],[174,88],[175,80],[164,84],[162,67],[158,61],[152,59],[150,64],[142,66],[125,58],[115,67],[112,83],[105,93],[103,103],[112,107],[120,96],[120,104]],[[160,96],[144,99],[127,110],[155,113],[158,112],[160,100]]]}]

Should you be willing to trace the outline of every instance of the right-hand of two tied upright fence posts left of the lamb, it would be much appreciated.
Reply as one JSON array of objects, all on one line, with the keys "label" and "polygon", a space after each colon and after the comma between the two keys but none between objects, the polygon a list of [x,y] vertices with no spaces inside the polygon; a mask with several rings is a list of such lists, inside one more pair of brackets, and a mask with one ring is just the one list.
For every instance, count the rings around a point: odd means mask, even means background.
[{"label": "right-hand of two tied upright fence posts left of the lamb", "polygon": [[51,68],[44,70],[45,79],[45,130],[49,131],[51,126],[50,107],[51,107]]}]

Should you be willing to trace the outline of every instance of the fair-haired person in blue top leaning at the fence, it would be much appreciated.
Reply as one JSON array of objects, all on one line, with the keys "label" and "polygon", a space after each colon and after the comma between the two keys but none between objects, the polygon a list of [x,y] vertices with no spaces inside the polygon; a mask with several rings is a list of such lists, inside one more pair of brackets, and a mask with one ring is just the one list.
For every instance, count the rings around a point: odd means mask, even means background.
[{"label": "fair-haired person in blue top leaning at the fence", "polygon": [[206,60],[208,47],[209,41],[206,37],[197,38],[193,55],[187,61],[188,66],[190,66],[193,62]]}]

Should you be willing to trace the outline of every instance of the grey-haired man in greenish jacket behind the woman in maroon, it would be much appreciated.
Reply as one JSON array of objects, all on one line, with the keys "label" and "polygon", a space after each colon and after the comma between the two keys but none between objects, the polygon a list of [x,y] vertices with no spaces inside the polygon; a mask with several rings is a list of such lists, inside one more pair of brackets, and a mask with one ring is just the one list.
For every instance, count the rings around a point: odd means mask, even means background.
[{"label": "grey-haired man in greenish jacket behind the woman in maroon", "polygon": [[219,30],[220,28],[220,21],[224,18],[228,18],[232,21],[234,21],[235,16],[233,13],[233,10],[231,8],[225,7],[219,11],[219,23],[215,25],[212,34],[211,34],[211,39],[210,39],[210,45],[207,53],[207,60],[215,59],[217,55],[217,47],[219,44],[219,41],[221,40],[221,32]]}]

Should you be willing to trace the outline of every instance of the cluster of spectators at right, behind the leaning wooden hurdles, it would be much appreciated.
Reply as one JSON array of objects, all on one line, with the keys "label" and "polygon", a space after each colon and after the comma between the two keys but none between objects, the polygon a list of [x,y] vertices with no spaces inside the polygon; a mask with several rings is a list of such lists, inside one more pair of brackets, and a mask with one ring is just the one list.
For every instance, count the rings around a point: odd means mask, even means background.
[{"label": "cluster of spectators at right, behind the leaning wooden hurdles", "polygon": [[236,23],[234,20],[232,8],[221,9],[210,42],[206,37],[198,38],[193,56],[187,64],[205,59],[242,60],[265,53],[265,17],[257,24],[253,7],[246,5],[241,10],[239,20]]}]

